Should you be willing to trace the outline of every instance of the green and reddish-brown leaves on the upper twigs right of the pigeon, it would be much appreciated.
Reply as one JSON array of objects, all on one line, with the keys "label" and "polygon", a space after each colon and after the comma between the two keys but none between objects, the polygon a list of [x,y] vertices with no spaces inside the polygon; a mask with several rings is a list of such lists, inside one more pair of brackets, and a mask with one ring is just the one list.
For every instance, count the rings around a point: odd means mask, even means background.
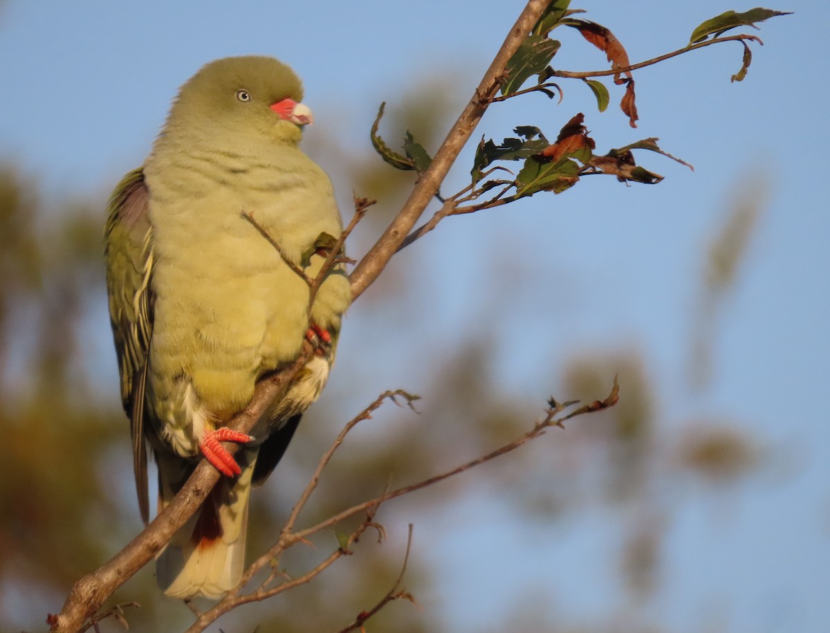
[{"label": "green and reddish-brown leaves on the upper twigs right of the pigeon", "polygon": [[[535,22],[535,26],[507,61],[504,75],[500,78],[500,96],[492,97],[488,103],[506,101],[530,92],[540,92],[550,99],[559,95],[561,103],[563,98],[561,87],[549,80],[553,77],[564,77],[583,81],[593,92],[598,110],[603,112],[608,108],[611,95],[602,81],[592,77],[613,76],[614,84],[624,86],[620,109],[627,116],[629,125],[637,127],[639,115],[637,114],[633,70],[689,52],[696,47],[737,40],[744,46],[744,57],[743,65],[740,71],[732,76],[732,81],[742,81],[752,60],[748,42],[759,42],[759,40],[750,35],[721,37],[722,34],[736,27],[754,27],[755,22],[763,22],[770,17],[787,15],[786,12],[764,8],[755,8],[743,13],[725,12],[696,27],[686,47],[666,56],[632,65],[622,42],[608,27],[581,17],[574,17],[583,13],[583,10],[571,9],[569,5],[570,0],[554,0],[544,9],[541,17]],[[552,39],[550,34],[554,32],[554,29],[562,26],[574,28],[587,42],[604,52],[611,63],[610,70],[570,72],[554,69],[551,62],[562,47],[562,43]],[[709,39],[710,36],[714,37]],[[534,77],[535,84],[523,87]],[[424,173],[429,168],[432,158],[409,132],[403,144],[404,155],[390,150],[379,137],[378,125],[384,106],[385,103],[381,104],[371,130],[375,150],[384,160],[398,169],[414,169],[419,174]],[[515,136],[507,137],[500,143],[482,137],[476,148],[476,155],[470,170],[471,184],[447,200],[439,195],[438,198],[445,203],[444,209],[438,212],[437,217],[433,218],[430,223],[409,236],[407,243],[411,243],[423,233],[432,230],[437,221],[447,215],[471,213],[507,204],[540,191],[560,194],[573,187],[582,176],[588,174],[613,175],[620,182],[625,183],[657,184],[661,182],[662,175],[637,165],[632,150],[656,152],[694,169],[691,164],[662,150],[657,145],[655,137],[637,140],[623,147],[608,150],[605,154],[598,154],[595,152],[596,143],[588,135],[584,120],[585,117],[581,112],[573,115],[559,130],[559,135],[553,142],[545,137],[537,125],[517,125],[514,128]],[[520,161],[518,173],[514,174],[510,169],[506,169],[501,164],[505,161]],[[462,206],[462,203],[471,201],[476,202]]]}]

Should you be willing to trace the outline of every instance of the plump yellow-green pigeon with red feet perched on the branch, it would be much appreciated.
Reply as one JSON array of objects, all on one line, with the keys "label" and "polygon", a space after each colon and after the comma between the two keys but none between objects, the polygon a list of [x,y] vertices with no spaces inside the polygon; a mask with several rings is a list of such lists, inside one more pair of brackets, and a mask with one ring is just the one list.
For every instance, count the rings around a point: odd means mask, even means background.
[{"label": "plump yellow-green pigeon with red feet perched on the branch", "polygon": [[[144,522],[148,444],[159,512],[203,457],[222,472],[157,558],[169,596],[216,599],[237,585],[251,485],[320,395],[349,306],[339,257],[311,301],[343,225],[330,179],[300,150],[313,120],[301,100],[300,80],[271,57],[207,64],[107,209],[110,320]],[[257,380],[295,361],[306,339],[315,353],[252,435],[228,429]],[[235,458],[223,441],[241,444]]]}]

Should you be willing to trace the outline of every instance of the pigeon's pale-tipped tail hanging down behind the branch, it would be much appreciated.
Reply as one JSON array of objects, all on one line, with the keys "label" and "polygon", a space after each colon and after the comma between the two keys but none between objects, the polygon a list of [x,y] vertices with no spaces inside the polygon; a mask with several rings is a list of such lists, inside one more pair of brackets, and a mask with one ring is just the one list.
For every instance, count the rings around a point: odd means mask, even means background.
[{"label": "pigeon's pale-tipped tail hanging down behind the branch", "polygon": [[[236,457],[242,474],[220,478],[202,508],[159,552],[156,579],[168,596],[216,600],[242,577],[256,450],[239,450]],[[193,465],[169,454],[158,454],[157,459],[161,512],[187,481]]]}]

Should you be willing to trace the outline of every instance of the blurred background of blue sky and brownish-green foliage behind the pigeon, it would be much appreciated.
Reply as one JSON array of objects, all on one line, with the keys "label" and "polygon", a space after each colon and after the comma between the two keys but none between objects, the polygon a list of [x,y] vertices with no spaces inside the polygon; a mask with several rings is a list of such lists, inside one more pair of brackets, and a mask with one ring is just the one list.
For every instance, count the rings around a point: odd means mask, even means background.
[{"label": "blurred background of blue sky and brownish-green foliage behind the pigeon", "polygon": [[[178,86],[203,63],[259,53],[304,78],[305,149],[378,199],[359,257],[413,184],[373,154],[369,127],[434,151],[522,2],[0,3],[0,630],[42,631],[71,584],[141,528],[106,315],[105,200],[141,163]],[[574,2],[642,61],[730,8]],[[578,81],[488,111],[474,140],[515,125],[549,137],[577,112],[598,150],[658,136],[686,167],[641,152],[656,186],[583,179],[564,194],[450,218],[393,260],[345,323],[324,397],[256,493],[251,551],[337,430],[378,393],[301,524],[449,469],[529,429],[545,400],[622,400],[378,514],[388,539],[288,596],[209,631],[338,631],[412,555],[399,601],[368,631],[830,630],[830,220],[822,153],[830,8],[763,25],[740,84],[740,45],[637,71],[632,130]],[[554,65],[606,67],[561,29]],[[443,187],[465,186],[474,144]],[[206,253],[209,257],[209,253]],[[334,533],[282,562],[298,575]],[[112,603],[133,631],[183,631],[152,566]],[[119,631],[110,619],[102,631]]]}]

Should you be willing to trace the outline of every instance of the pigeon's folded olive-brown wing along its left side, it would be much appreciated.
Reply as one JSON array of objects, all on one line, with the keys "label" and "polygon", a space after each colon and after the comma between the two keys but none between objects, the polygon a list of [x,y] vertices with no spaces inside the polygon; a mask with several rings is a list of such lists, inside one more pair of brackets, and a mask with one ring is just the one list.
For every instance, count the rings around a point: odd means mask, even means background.
[{"label": "pigeon's folded olive-brown wing along its left side", "polygon": [[133,440],[135,488],[141,518],[149,517],[147,445],[144,439],[144,390],[153,333],[153,232],[149,191],[142,169],[126,174],[107,205],[105,258],[110,320],[118,354],[121,401],[129,415]]}]

